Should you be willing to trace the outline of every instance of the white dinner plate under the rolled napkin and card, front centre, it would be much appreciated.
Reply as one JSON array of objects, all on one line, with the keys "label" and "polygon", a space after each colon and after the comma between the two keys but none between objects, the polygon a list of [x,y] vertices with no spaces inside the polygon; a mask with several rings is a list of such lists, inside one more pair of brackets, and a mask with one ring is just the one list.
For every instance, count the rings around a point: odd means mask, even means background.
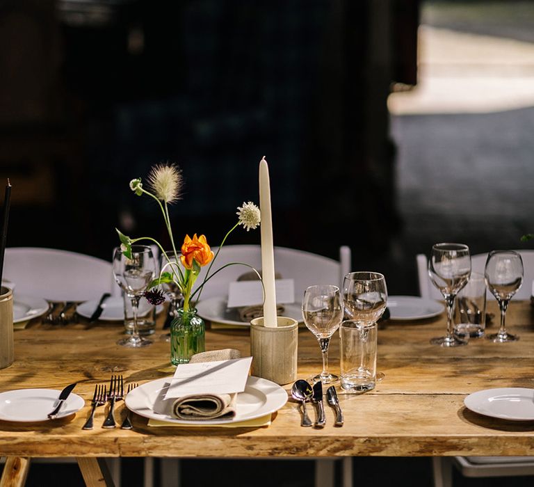
[{"label": "white dinner plate under the rolled napkin and card, front centre", "polygon": [[274,382],[249,376],[245,390],[237,394],[236,415],[233,418],[193,421],[178,420],[170,415],[175,399],[163,399],[172,377],[163,377],[133,389],[124,399],[129,410],[151,420],[177,424],[225,424],[254,420],[279,410],[287,402],[287,392]]}]

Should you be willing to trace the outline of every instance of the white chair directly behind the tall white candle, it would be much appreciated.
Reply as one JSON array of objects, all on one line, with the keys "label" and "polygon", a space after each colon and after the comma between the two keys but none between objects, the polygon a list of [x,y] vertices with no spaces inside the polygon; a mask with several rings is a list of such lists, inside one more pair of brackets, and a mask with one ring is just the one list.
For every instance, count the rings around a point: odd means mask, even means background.
[{"label": "white chair directly behind the tall white candle", "polygon": [[[212,248],[212,250],[217,252],[217,248]],[[350,248],[347,246],[339,248],[339,261],[303,250],[284,247],[275,247],[274,254],[275,271],[280,273],[282,278],[294,280],[296,301],[300,301],[308,286],[321,283],[341,286],[343,277],[350,272]],[[243,262],[259,270],[261,269],[261,248],[257,245],[223,246],[211,272],[230,262]],[[202,282],[207,267],[202,268],[197,283]],[[226,267],[206,283],[200,299],[227,296],[229,282],[235,281],[243,273],[249,271],[251,269],[247,266],[232,265]],[[351,487],[352,458],[343,457],[342,461],[342,486]],[[146,463],[145,468],[147,468]],[[315,461],[315,486],[333,487],[334,470],[333,458],[317,458]],[[161,486],[179,486],[179,461],[175,458],[161,458],[160,478]]]}]

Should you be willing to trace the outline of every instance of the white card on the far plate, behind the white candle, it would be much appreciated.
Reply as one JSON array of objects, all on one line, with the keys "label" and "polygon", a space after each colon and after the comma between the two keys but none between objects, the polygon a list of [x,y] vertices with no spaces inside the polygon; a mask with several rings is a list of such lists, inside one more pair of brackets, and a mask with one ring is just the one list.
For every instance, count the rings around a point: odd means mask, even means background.
[{"label": "white card on the far plate, behind the white candle", "polygon": [[[275,280],[275,288],[277,304],[295,302],[295,283],[293,279],[277,279]],[[227,308],[261,305],[263,302],[264,291],[259,280],[230,282]]]}]

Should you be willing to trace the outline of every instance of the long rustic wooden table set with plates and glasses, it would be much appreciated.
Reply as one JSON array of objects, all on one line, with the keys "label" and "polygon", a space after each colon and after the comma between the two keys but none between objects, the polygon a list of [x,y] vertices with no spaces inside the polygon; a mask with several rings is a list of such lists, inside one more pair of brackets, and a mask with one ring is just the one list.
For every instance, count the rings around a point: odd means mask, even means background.
[{"label": "long rustic wooden table set with plates and glasses", "polygon": [[[489,303],[489,310],[496,312],[495,303]],[[122,333],[120,324],[52,326],[35,320],[15,332],[15,362],[1,370],[0,391],[60,390],[77,382],[74,392],[86,399],[86,406],[76,415],[52,422],[0,422],[0,454],[12,457],[8,462],[15,466],[15,470],[6,468],[3,477],[20,477],[24,458],[40,456],[76,456],[85,476],[97,465],[96,458],[105,456],[534,455],[534,422],[493,420],[463,405],[464,397],[476,390],[534,387],[534,308],[512,301],[507,322],[510,331],[521,337],[519,342],[471,340],[469,346],[455,349],[429,343],[431,337],[444,334],[444,315],[382,325],[378,369],[385,379],[372,392],[339,393],[346,418],[342,428],[333,426],[334,413],[328,406],[324,429],[300,427],[298,404],[289,401],[270,426],[259,429],[150,427],[136,415],[132,431],[101,429],[104,408],[98,408],[95,429],[82,431],[95,384],[107,383],[111,374],[123,374],[127,383],[172,375],[169,344],[154,340],[143,349],[126,349],[115,344]],[[161,330],[156,331],[156,339],[159,335]],[[338,341],[336,335],[330,350],[332,372],[339,372]],[[207,349],[232,346],[248,355],[248,328],[208,330],[206,344]],[[299,333],[298,363],[300,378],[321,368],[318,344],[305,328]],[[118,420],[124,414],[120,402]]]}]

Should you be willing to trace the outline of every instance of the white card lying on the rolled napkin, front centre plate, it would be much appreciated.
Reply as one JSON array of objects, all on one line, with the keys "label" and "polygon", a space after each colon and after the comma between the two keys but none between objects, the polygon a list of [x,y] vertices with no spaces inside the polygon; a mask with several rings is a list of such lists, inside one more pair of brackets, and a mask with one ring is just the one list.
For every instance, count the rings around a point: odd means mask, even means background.
[{"label": "white card lying on the rolled napkin, front centre plate", "polygon": [[165,393],[165,399],[189,394],[233,394],[243,392],[252,357],[181,364]]}]

